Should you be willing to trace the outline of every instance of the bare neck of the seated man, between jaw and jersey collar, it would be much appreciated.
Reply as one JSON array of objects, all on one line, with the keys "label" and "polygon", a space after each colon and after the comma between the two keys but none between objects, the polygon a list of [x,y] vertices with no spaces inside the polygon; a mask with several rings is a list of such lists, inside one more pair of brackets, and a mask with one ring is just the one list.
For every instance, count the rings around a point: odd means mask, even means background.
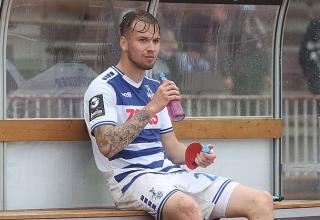
[{"label": "bare neck of the seated man, between jaw and jersey collar", "polygon": [[121,58],[119,63],[116,65],[127,77],[132,79],[134,82],[139,83],[144,77],[145,70],[138,68],[136,65],[131,63],[127,59]]}]

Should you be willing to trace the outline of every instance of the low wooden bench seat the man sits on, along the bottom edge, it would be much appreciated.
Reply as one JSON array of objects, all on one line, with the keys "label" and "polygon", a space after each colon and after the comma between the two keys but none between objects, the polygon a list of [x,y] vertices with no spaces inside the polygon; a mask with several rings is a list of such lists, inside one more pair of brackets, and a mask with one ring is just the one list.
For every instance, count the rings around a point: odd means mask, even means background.
[{"label": "low wooden bench seat the man sits on, along the bottom edge", "polygon": [[[320,200],[284,200],[274,202],[275,217],[311,217],[320,216]],[[96,219],[140,219],[151,220],[152,217],[144,211],[124,211],[115,208],[73,208],[73,209],[41,209],[1,211],[1,220],[27,219],[67,219],[67,218],[96,218]]]}]

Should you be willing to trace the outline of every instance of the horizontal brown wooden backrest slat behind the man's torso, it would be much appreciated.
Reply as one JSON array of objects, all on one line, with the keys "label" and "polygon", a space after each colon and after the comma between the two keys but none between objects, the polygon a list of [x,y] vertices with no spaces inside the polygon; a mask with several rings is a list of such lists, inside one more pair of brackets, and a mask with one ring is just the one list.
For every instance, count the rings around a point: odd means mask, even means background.
[{"label": "horizontal brown wooden backrest slat behind the man's torso", "polygon": [[[186,119],[174,124],[179,139],[282,137],[282,119]],[[0,141],[89,140],[83,119],[0,120]]]}]

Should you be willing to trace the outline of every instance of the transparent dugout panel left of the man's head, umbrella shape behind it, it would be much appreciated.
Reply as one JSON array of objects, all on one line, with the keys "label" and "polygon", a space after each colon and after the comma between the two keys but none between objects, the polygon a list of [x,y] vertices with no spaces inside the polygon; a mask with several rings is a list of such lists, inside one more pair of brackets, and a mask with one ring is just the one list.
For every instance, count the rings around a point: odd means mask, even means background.
[{"label": "transparent dugout panel left of the man's head, umbrella shape behind it", "polygon": [[12,0],[7,118],[82,118],[89,83],[119,57],[118,24],[147,1]]}]

